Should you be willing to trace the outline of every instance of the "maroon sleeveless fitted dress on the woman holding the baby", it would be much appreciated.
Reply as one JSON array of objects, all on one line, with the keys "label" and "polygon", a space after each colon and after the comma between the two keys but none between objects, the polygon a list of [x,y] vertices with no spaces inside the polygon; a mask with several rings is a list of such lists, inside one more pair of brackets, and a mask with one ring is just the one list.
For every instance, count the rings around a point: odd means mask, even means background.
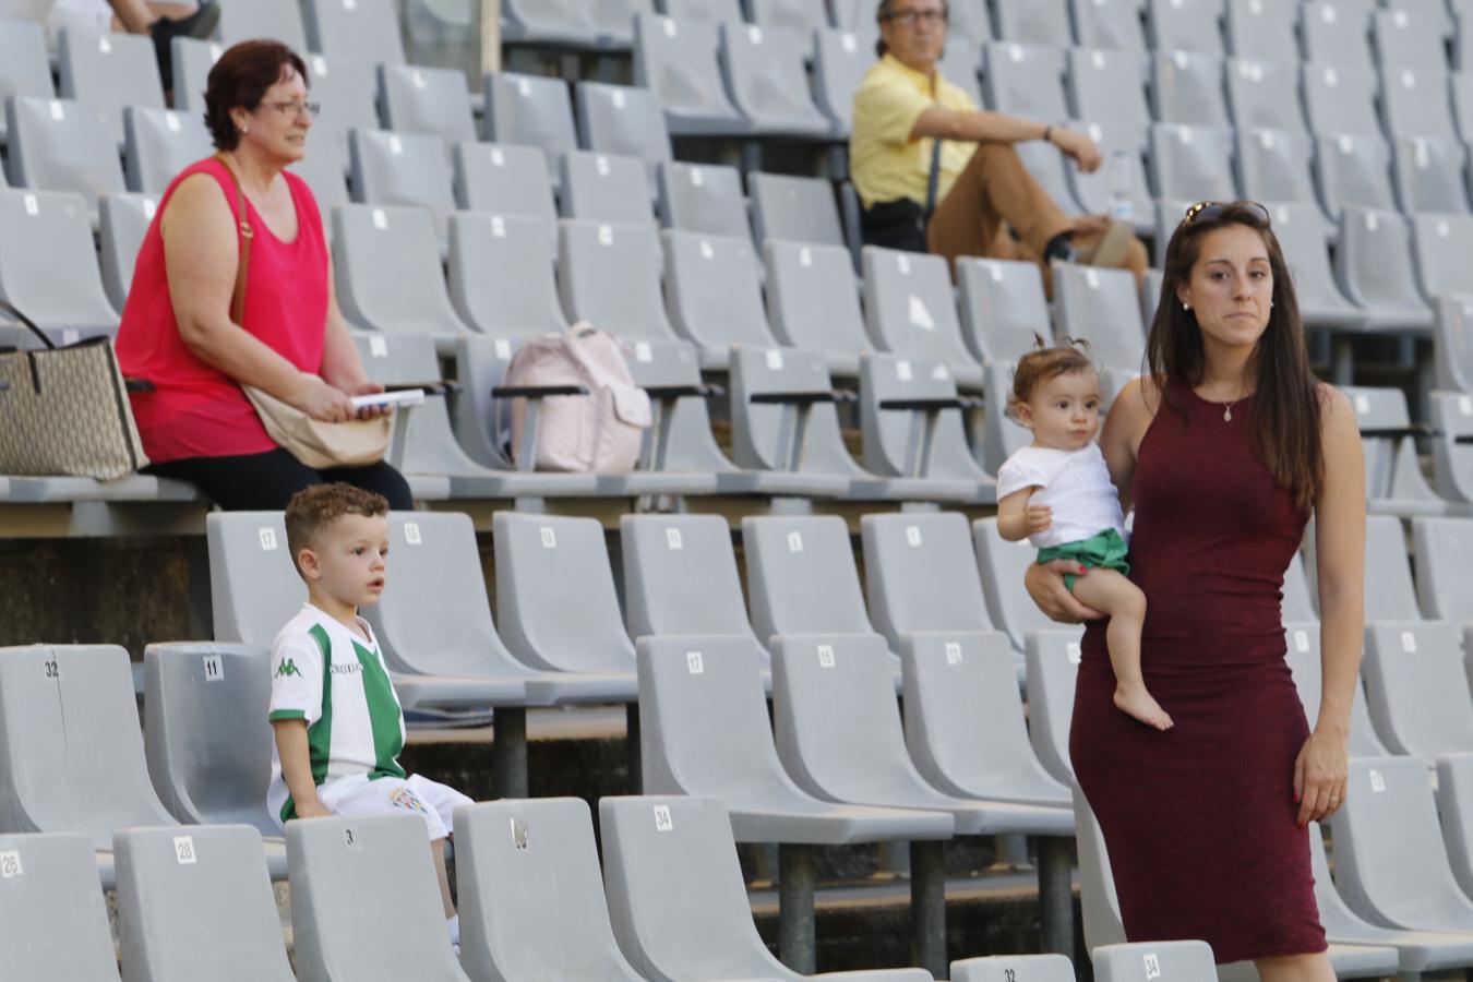
[{"label": "maroon sleeveless fitted dress on the woman holding the baby", "polygon": [[[1283,573],[1307,515],[1248,440],[1251,400],[1168,383],[1140,443],[1131,580],[1142,668],[1175,727],[1115,708],[1084,635],[1069,757],[1099,817],[1130,941],[1196,938],[1220,963],[1324,951],[1293,763],[1309,735],[1284,663]],[[1184,417],[1175,406],[1184,411]]]}]

